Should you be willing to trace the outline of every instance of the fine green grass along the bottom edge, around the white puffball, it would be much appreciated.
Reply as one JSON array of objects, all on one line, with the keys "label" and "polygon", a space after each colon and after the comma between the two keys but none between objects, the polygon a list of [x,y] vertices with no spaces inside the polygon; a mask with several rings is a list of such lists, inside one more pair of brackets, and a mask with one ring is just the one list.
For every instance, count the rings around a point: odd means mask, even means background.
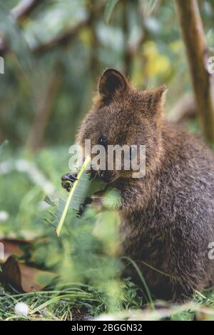
[{"label": "fine green grass along the bottom edge, around the white puffball", "polygon": [[[130,284],[130,283],[129,283]],[[131,286],[126,286],[131,289]],[[131,289],[132,290],[132,289]],[[129,292],[130,293],[130,292]],[[208,298],[209,297],[209,298]],[[108,314],[111,319],[133,320],[159,320],[171,319],[178,321],[213,320],[214,319],[214,293],[205,291],[205,296],[195,294],[194,301],[183,306],[159,302],[158,309],[147,306],[139,309],[138,298],[130,300],[131,296],[124,297],[123,309]],[[18,302],[29,306],[28,316],[17,316],[14,307]],[[161,306],[161,308],[160,308]],[[83,284],[67,284],[56,290],[37,291],[25,294],[0,292],[0,320],[71,320],[90,319],[106,313],[106,300],[101,292],[91,286]]]}]

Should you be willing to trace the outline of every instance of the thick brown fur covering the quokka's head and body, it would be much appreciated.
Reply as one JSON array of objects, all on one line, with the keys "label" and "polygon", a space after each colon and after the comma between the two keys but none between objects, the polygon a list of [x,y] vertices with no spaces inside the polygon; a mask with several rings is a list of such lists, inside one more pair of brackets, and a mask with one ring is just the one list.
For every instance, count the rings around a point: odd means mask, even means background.
[{"label": "thick brown fur covering the quokka's head and body", "polygon": [[[109,187],[121,192],[123,250],[156,297],[182,301],[214,282],[214,261],[208,259],[214,241],[214,155],[200,139],[163,121],[164,96],[165,86],[138,91],[108,69],[77,141],[98,144],[105,134],[108,144],[146,145],[145,177],[110,171]],[[134,269],[132,274],[138,277]]]}]

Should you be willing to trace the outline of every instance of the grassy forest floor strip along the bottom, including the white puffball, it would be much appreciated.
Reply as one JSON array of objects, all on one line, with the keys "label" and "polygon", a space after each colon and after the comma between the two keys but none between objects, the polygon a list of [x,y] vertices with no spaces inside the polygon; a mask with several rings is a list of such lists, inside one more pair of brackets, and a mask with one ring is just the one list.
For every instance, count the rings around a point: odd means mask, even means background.
[{"label": "grassy forest floor strip along the bottom, including the white puffball", "polygon": [[[87,293],[88,294],[88,293]],[[204,295],[195,295],[194,301],[183,306],[156,301],[154,306],[136,306],[136,309],[122,309],[113,313],[103,313],[103,306],[97,304],[97,296],[91,293],[91,299],[83,299],[83,292],[73,288],[60,292],[50,289],[20,294],[9,293],[1,287],[0,320],[213,320],[214,293],[206,291]],[[19,303],[21,302],[21,306]],[[22,315],[19,315],[19,311]]]}]

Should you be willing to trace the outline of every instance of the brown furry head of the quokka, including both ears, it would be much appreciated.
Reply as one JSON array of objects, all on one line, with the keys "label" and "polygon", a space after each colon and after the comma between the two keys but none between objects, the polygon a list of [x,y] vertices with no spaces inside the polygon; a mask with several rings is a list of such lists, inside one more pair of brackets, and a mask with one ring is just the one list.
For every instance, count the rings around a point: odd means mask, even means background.
[{"label": "brown furry head of the quokka, including both ears", "polygon": [[[132,167],[127,170],[127,146],[130,147],[130,160],[136,150],[131,146],[146,146],[146,174],[156,167],[161,152],[161,114],[165,91],[165,86],[139,91],[128,83],[121,72],[115,69],[104,71],[98,82],[98,94],[93,107],[77,135],[77,143],[82,147],[85,146],[85,140],[90,139],[91,147],[101,145],[106,149],[106,169],[98,170],[104,181],[110,183],[120,177],[133,176]],[[116,156],[113,156],[113,168],[107,164],[108,148],[111,146],[112,153],[112,146],[116,145],[126,145],[126,155],[122,150],[120,169],[116,167]],[[139,152],[137,149],[137,161],[140,159]]]}]

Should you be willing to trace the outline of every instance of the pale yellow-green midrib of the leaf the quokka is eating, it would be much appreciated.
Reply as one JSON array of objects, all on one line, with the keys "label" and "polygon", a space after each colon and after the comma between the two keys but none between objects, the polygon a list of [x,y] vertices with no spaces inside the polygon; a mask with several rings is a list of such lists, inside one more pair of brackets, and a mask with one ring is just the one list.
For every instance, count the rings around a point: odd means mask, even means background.
[{"label": "pale yellow-green midrib of the leaf the quokka is eating", "polygon": [[56,235],[57,236],[60,235],[63,223],[64,223],[64,221],[66,219],[66,214],[68,212],[69,204],[71,203],[72,196],[74,194],[74,191],[76,190],[76,186],[78,185],[78,180],[81,178],[81,175],[83,174],[83,172],[86,171],[86,169],[87,169],[88,165],[90,164],[90,162],[91,162],[91,158],[89,156],[87,156],[86,160],[83,163],[83,166],[81,167],[81,170],[78,173],[77,180],[74,181],[74,183],[73,183],[73,187],[71,189],[71,192],[69,193],[68,199],[66,201],[66,205],[65,205],[65,207],[63,209],[63,213],[61,215],[61,219],[59,220],[58,226],[56,228]]}]

